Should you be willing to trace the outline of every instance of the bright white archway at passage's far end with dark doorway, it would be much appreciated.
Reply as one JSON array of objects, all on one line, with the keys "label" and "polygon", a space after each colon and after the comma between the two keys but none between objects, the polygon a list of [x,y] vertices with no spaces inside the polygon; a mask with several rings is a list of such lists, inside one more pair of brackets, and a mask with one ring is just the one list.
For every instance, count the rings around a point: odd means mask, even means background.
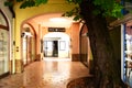
[{"label": "bright white archway at passage's far end with dark doorway", "polygon": [[47,33],[43,36],[44,57],[69,57],[70,37],[61,32]]}]

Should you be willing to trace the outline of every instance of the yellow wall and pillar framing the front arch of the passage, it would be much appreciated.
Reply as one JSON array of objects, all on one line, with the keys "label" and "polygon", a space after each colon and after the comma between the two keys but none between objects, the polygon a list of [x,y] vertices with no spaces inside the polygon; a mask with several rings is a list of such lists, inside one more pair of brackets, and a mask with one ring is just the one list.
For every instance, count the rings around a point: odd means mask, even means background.
[{"label": "yellow wall and pillar framing the front arch of the passage", "polygon": [[[66,12],[74,8],[66,0],[48,0],[46,4],[26,9],[20,9],[20,3],[14,6],[15,12],[15,59],[21,59],[21,24],[22,22],[44,13]],[[19,48],[18,48],[19,47]]]}]

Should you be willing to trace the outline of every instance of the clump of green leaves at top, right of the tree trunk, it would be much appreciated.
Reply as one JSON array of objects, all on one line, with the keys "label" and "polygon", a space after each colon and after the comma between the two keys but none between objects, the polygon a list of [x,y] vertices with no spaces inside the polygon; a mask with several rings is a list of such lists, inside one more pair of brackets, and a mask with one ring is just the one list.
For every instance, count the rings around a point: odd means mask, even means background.
[{"label": "clump of green leaves at top, right of the tree trunk", "polygon": [[94,4],[97,7],[94,14],[102,14],[103,16],[121,16],[122,4],[116,0],[95,0]]}]

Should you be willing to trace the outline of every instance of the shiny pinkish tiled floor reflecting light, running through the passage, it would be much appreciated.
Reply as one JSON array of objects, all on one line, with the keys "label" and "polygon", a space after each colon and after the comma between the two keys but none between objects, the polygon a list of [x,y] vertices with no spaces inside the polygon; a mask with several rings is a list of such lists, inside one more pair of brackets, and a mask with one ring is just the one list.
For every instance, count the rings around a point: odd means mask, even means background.
[{"label": "shiny pinkish tiled floor reflecting light, running through the passage", "polygon": [[72,79],[89,75],[81,63],[66,59],[68,58],[46,58],[34,62],[22,74],[0,79],[0,88],[66,88]]}]

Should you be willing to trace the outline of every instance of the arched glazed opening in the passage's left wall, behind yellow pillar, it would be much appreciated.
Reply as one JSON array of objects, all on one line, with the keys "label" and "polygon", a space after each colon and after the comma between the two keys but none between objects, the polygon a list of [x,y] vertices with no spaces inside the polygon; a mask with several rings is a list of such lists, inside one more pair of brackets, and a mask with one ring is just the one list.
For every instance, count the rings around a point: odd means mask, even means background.
[{"label": "arched glazed opening in the passage's left wall, behind yellow pillar", "polygon": [[22,61],[24,65],[30,64],[31,62],[35,61],[35,41],[36,35],[32,28],[32,25],[25,23],[22,25]]}]

